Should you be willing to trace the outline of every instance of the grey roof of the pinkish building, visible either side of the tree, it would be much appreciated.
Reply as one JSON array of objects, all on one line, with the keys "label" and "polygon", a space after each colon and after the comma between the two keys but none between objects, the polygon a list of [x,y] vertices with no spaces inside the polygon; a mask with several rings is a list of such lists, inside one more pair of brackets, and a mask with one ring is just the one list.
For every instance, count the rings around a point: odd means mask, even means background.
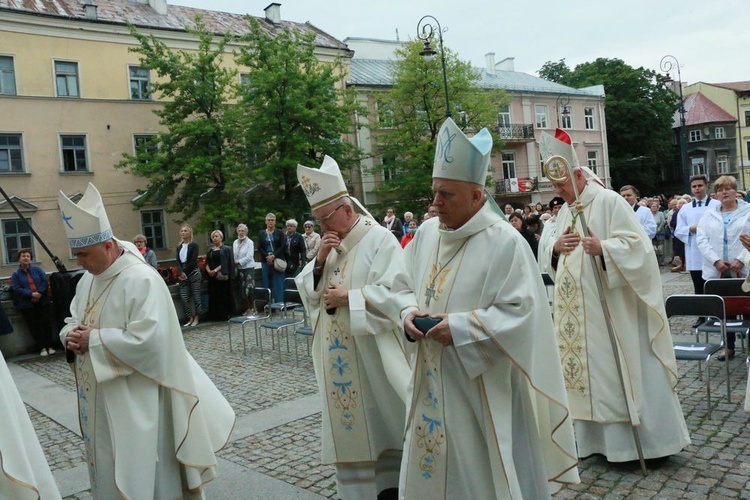
[{"label": "grey roof of the pinkish building, visible either side of the tree", "polygon": [[[390,87],[393,85],[395,64],[396,61],[390,59],[357,59],[355,57],[351,61],[348,83]],[[484,68],[474,69],[480,74],[478,85],[485,89],[604,97],[603,85],[576,89],[517,71],[496,70],[494,75],[490,75]]]}]

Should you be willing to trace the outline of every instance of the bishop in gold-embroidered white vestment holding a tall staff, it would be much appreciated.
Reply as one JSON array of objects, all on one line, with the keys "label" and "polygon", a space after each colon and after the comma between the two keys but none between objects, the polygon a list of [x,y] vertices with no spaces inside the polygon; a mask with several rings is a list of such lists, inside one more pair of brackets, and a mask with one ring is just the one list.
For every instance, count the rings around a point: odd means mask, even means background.
[{"label": "bishop in gold-embroidered white vestment holding a tall staff", "polygon": [[[555,281],[554,321],[576,420],[578,456],[598,453],[611,462],[637,460],[631,423],[638,429],[645,458],[676,454],[690,444],[690,437],[675,391],[677,362],[653,245],[621,196],[596,177],[587,182],[567,134],[558,131],[556,137],[562,140],[542,135],[542,155],[545,160],[562,156],[572,166],[573,180],[566,174],[553,184],[558,195],[573,203],[576,182],[590,230],[584,238],[575,205],[564,206],[556,241],[540,256],[549,262]],[[625,393],[595,272],[601,276],[617,339]]]}]

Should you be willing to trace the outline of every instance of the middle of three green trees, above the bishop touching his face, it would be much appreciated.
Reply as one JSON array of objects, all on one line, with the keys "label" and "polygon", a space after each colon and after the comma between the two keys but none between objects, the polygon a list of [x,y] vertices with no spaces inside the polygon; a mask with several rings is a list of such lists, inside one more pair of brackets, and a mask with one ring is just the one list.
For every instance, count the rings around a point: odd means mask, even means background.
[{"label": "middle of three green trees, above the bishop touching his face", "polygon": [[362,109],[343,90],[341,62],[316,58],[314,33],[284,28],[271,35],[255,18],[248,23],[237,56],[247,68],[238,91],[241,154],[252,183],[270,187],[259,194],[265,203],[284,215],[304,213],[309,206],[296,187],[297,164],[315,167],[327,154],[342,171],[354,166],[357,150],[343,138],[354,132],[352,117]]}]

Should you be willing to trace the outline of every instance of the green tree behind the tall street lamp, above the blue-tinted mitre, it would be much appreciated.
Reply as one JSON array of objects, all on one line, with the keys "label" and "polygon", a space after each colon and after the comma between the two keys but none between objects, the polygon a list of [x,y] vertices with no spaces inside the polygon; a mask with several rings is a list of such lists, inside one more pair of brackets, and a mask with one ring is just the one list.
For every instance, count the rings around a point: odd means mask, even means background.
[{"label": "green tree behind the tall street lamp, above the blue-tinted mitre", "polygon": [[[381,164],[373,171],[388,175],[376,192],[386,195],[398,211],[413,209],[417,201],[426,206],[431,198],[435,143],[445,120],[441,62],[439,57],[426,61],[419,55],[422,47],[415,40],[396,51],[393,87],[379,99],[376,141]],[[485,126],[494,131],[498,107],[508,102],[505,91],[479,88],[479,72],[447,48],[445,65],[454,121],[467,133]]]}]

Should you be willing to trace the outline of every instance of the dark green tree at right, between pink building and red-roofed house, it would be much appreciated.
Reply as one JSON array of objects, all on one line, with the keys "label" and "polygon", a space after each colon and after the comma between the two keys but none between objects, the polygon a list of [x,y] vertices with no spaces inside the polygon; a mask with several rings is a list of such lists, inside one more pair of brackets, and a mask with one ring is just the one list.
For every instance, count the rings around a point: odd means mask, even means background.
[{"label": "dark green tree at right, between pink building and red-roofed house", "polygon": [[606,58],[572,71],[564,59],[547,62],[539,75],[576,88],[604,85],[612,187],[633,184],[641,192],[655,192],[662,167],[674,163],[672,121],[679,107],[664,76]]}]

